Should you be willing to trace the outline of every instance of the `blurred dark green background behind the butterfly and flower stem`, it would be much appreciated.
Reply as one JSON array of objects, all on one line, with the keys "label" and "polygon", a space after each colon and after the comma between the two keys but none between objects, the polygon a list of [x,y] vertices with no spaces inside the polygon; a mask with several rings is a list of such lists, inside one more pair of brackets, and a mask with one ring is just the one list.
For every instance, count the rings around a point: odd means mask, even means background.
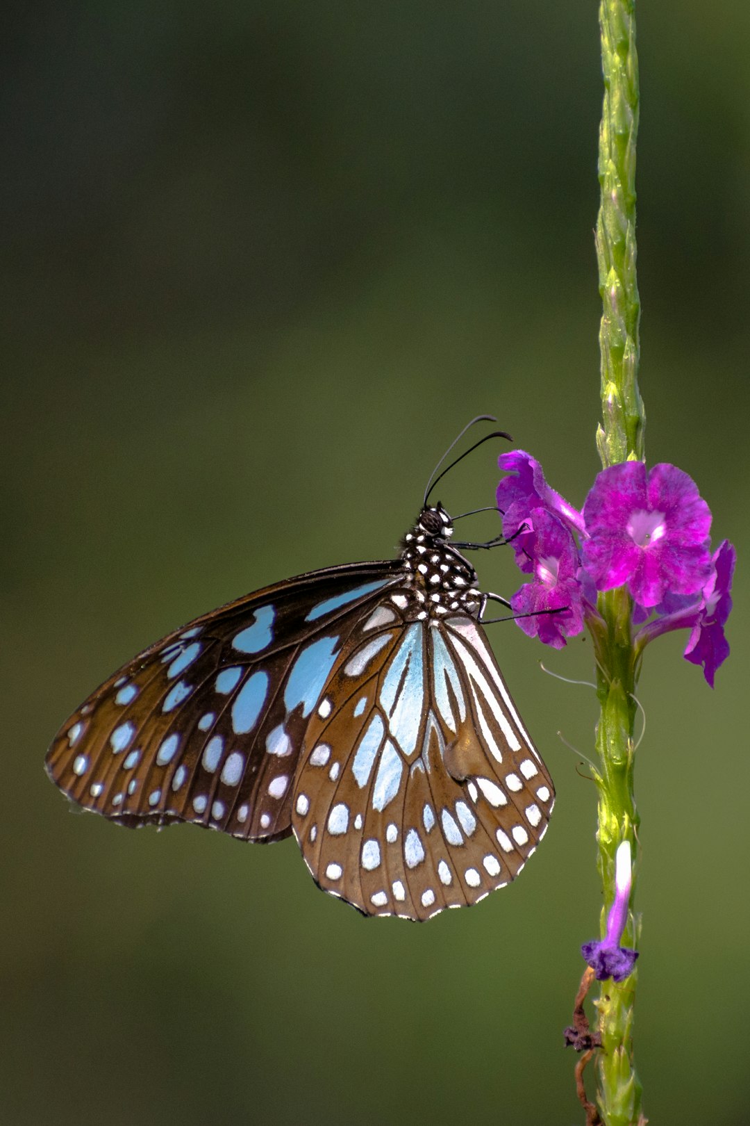
[{"label": "blurred dark green background behind the butterfly and flower stem", "polygon": [[[647,448],[740,554],[716,690],[678,636],[641,681],[654,1123],[746,1123],[750,1097],[749,36],[740,0],[639,12]],[[493,627],[555,815],[518,883],[424,926],[322,895],[293,841],[76,816],[42,762],[175,625],[389,555],[473,413],[582,503],[596,5],[42,0],[2,51],[2,1121],[580,1123],[595,790],[557,732],[590,752],[595,699],[539,660],[590,677],[587,643]],[[491,502],[494,458],[449,508]],[[518,584],[507,552],[478,565]]]}]

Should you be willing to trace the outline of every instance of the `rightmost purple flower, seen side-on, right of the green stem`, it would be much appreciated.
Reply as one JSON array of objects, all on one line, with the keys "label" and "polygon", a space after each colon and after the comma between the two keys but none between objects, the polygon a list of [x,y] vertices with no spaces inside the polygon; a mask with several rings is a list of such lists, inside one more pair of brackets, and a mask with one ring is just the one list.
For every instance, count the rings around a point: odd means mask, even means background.
[{"label": "rightmost purple flower, seen side-on, right of the green stem", "polygon": [[734,546],[724,539],[714,553],[711,574],[701,597],[667,595],[657,607],[659,616],[639,629],[639,647],[672,629],[689,629],[684,655],[693,664],[703,665],[703,674],[713,688],[716,669],[729,656],[724,624],[732,609],[730,591],[735,560]]}]

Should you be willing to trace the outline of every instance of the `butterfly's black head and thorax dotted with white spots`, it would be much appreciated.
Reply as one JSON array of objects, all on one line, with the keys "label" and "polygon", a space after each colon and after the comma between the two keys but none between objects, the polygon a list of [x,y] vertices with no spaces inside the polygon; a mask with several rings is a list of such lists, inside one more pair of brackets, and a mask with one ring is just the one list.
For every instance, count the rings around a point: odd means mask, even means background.
[{"label": "butterfly's black head and thorax dotted with white spots", "polygon": [[436,504],[422,510],[401,540],[406,587],[414,600],[408,618],[424,620],[463,613],[477,617],[481,607],[477,572],[449,543],[453,534],[450,516]]}]

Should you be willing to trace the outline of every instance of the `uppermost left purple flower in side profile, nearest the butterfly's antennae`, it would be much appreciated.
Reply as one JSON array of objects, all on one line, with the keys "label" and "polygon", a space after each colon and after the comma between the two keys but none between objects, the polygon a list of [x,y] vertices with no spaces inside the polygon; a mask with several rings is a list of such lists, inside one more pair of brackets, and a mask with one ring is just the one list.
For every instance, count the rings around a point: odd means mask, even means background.
[{"label": "uppermost left purple flower in side profile, nearest the butterfly's antennae", "polygon": [[[531,572],[535,554],[533,509],[544,509],[558,517],[571,531],[584,533],[584,517],[564,497],[544,480],[539,462],[523,449],[500,454],[498,465],[508,474],[497,486],[497,507],[503,512],[503,533],[513,540],[516,563]],[[523,529],[523,530],[519,530]]]}]

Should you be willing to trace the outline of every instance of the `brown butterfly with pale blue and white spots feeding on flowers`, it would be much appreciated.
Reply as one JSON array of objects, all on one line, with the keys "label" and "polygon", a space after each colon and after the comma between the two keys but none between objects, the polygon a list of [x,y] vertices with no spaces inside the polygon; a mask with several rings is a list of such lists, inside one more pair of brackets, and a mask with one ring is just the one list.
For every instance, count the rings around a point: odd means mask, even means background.
[{"label": "brown butterfly with pale blue and white spots feeding on flowers", "polygon": [[482,628],[507,602],[458,549],[501,537],[451,543],[436,480],[398,558],[265,587],[115,672],[55,736],[52,780],[128,828],[293,833],[368,915],[428,919],[514,879],[554,788]]}]

